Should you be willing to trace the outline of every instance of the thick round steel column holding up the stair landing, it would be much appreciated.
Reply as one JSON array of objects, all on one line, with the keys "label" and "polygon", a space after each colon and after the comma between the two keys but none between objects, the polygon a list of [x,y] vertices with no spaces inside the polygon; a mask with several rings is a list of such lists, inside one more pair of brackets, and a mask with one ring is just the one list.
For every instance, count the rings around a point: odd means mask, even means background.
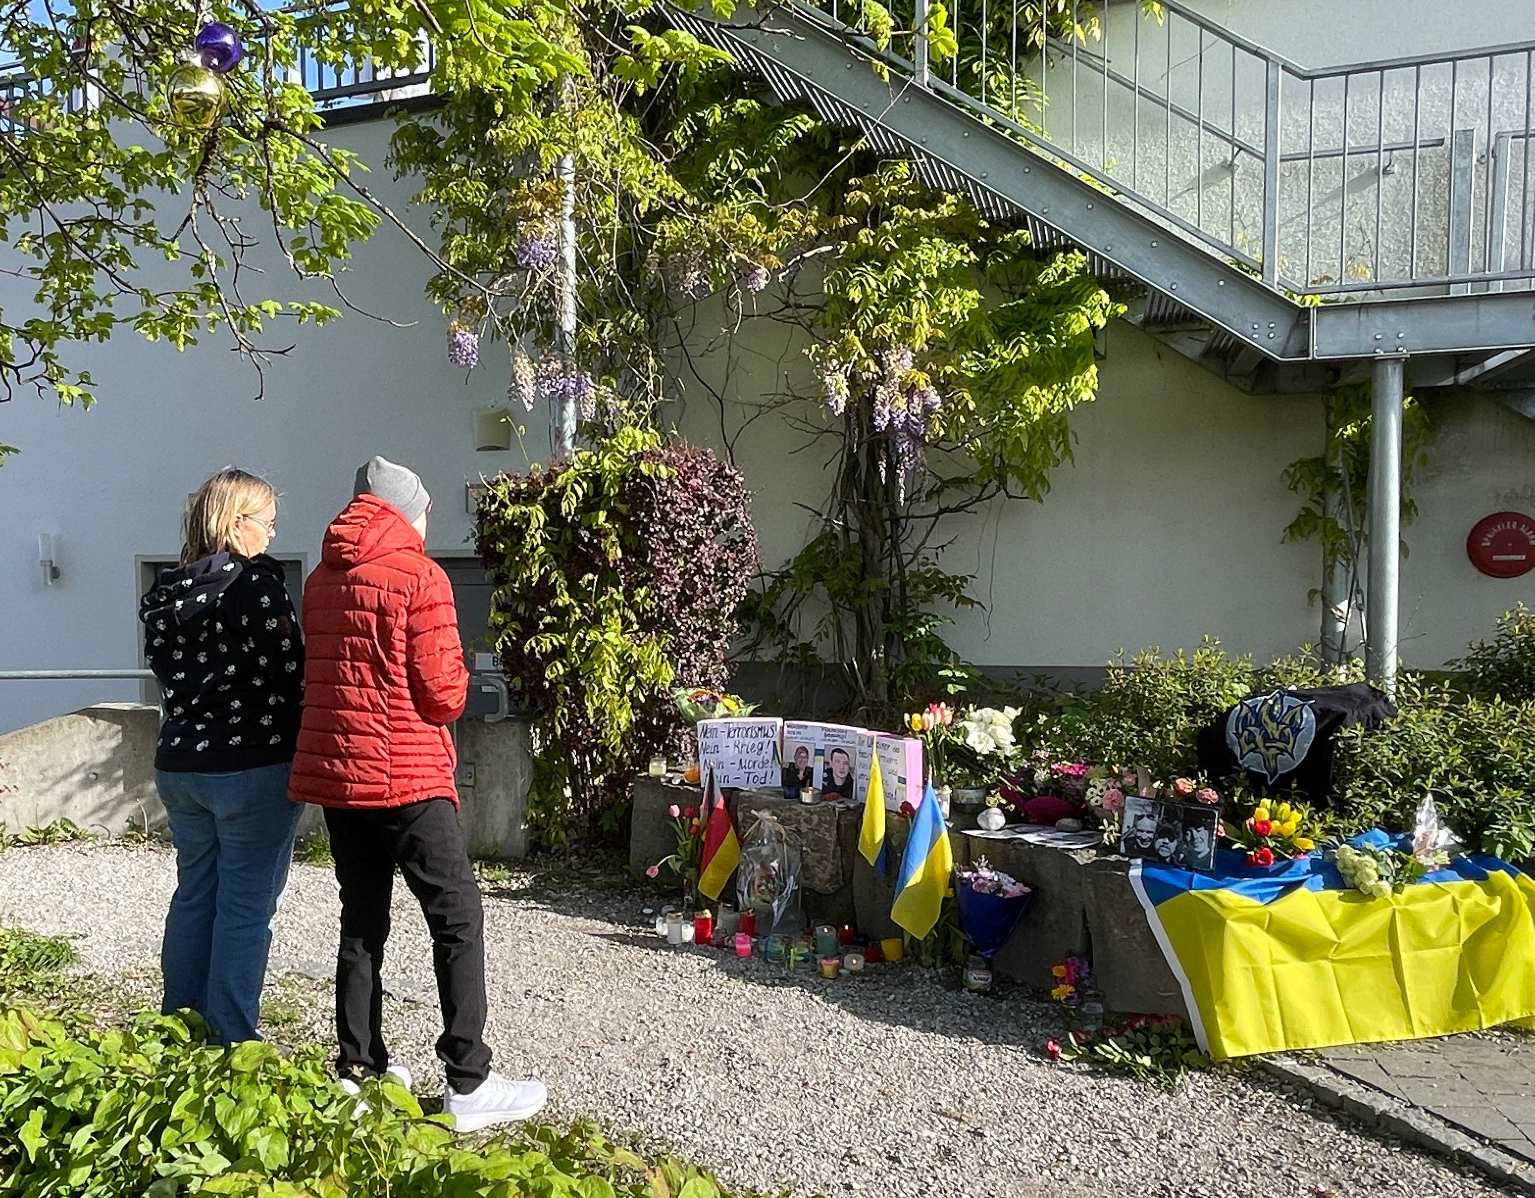
[{"label": "thick round steel column holding up the stair landing", "polygon": [[1369,419],[1369,589],[1366,667],[1388,695],[1397,692],[1397,614],[1401,568],[1401,388],[1405,357],[1377,357]]}]

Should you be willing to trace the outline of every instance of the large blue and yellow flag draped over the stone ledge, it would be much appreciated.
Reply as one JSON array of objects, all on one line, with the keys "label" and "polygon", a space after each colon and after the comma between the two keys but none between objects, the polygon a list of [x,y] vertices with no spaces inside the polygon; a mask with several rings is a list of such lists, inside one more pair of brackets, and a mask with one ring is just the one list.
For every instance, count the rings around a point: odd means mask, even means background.
[{"label": "large blue and yellow flag draped over the stone ledge", "polygon": [[1216,1060],[1535,1015],[1535,880],[1497,857],[1457,857],[1386,899],[1320,854],[1263,870],[1222,851],[1214,874],[1136,862],[1130,884]]}]

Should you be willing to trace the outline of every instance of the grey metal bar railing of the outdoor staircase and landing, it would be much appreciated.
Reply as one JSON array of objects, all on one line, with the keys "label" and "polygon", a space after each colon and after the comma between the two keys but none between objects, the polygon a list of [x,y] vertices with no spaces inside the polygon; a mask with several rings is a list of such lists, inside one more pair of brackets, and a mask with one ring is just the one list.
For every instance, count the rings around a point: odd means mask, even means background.
[{"label": "grey metal bar railing of the outdoor staircase and landing", "polygon": [[1276,290],[1535,278],[1535,41],[1311,71],[1177,0],[949,0],[939,60],[929,0],[884,49],[858,0],[791,3]]}]

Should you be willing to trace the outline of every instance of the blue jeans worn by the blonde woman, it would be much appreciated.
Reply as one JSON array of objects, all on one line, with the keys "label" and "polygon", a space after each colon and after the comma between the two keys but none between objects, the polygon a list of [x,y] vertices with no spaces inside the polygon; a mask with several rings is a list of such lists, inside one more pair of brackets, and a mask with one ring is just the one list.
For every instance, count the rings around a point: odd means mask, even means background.
[{"label": "blue jeans worn by the blonde woman", "polygon": [[282,903],[302,807],[287,762],[236,773],[167,773],[155,787],[177,845],[161,1011],[198,1011],[224,1045],[258,1040],[272,917]]}]

